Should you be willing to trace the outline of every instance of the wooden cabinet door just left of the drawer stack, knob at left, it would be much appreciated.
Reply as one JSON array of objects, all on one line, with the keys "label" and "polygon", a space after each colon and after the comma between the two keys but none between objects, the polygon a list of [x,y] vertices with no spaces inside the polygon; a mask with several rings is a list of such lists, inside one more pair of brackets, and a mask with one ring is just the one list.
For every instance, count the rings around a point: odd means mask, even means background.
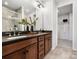
[{"label": "wooden cabinet door just left of the drawer stack, knob at left", "polygon": [[26,47],[26,59],[37,59],[37,43]]}]

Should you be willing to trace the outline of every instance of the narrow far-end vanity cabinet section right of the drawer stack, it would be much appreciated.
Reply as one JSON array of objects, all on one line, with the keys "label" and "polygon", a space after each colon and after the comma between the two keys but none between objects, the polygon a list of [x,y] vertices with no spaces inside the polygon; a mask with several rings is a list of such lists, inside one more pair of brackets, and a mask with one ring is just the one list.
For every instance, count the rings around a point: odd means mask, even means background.
[{"label": "narrow far-end vanity cabinet section right of the drawer stack", "polygon": [[52,36],[51,33],[45,35],[45,54],[47,54],[52,47]]}]

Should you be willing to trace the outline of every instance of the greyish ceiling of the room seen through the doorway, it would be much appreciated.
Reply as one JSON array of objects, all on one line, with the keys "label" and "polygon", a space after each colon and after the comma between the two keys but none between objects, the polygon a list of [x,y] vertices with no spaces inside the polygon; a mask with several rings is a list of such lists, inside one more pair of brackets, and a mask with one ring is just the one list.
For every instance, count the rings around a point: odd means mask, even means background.
[{"label": "greyish ceiling of the room seen through the doorway", "polygon": [[63,15],[63,14],[68,14],[68,13],[72,13],[72,5],[67,5],[67,6],[63,6],[60,7],[58,9],[58,15]]}]

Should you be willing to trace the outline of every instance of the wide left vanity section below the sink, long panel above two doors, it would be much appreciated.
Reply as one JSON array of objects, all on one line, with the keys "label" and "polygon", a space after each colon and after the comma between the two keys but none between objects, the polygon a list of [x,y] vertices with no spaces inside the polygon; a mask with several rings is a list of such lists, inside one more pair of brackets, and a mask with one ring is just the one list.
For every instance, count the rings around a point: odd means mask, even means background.
[{"label": "wide left vanity section below the sink, long panel above two doors", "polygon": [[3,59],[37,59],[37,38],[3,46]]}]

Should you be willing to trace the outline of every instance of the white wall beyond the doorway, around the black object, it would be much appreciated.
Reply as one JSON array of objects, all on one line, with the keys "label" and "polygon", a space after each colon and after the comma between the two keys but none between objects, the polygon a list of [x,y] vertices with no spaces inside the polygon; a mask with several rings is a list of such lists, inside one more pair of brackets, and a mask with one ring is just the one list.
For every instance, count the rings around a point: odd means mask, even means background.
[{"label": "white wall beyond the doorway, around the black object", "polygon": [[[63,19],[68,19],[67,23],[63,23]],[[72,13],[59,16],[58,19],[58,38],[72,40]]]}]

